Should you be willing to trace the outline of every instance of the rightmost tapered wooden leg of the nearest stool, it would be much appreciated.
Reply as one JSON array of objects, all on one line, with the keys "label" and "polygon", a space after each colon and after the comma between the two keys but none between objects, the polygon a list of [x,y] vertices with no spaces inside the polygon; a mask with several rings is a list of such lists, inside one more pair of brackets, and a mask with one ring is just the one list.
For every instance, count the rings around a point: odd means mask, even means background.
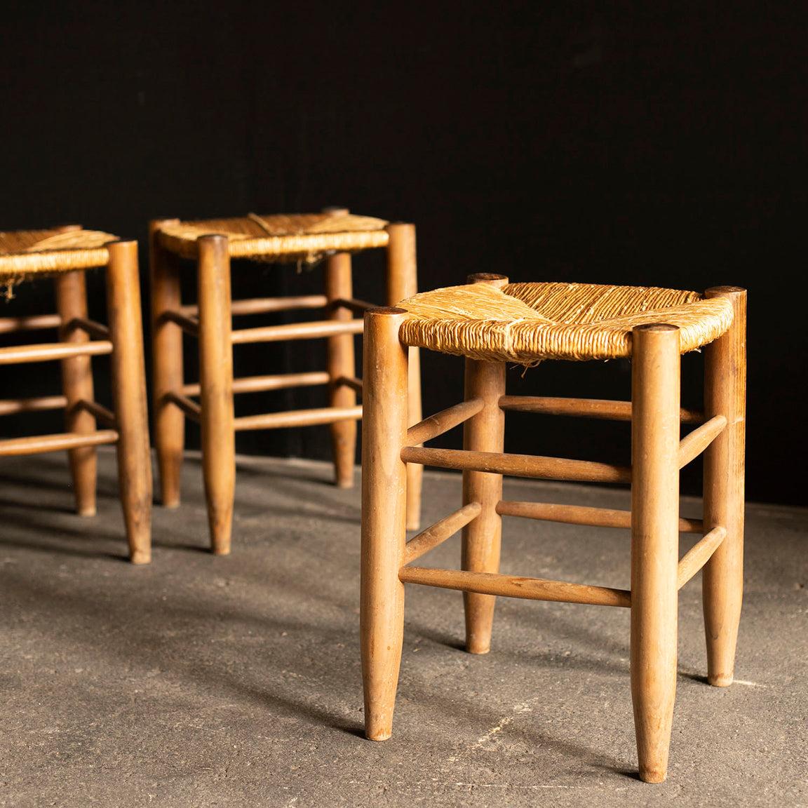
[{"label": "rightmost tapered wooden leg of the nearest stool", "polygon": [[709,684],[726,687],[734,677],[735,643],[743,600],[743,490],[746,440],[747,292],[708,289],[734,308],[730,330],[705,347],[705,417],[726,416],[726,429],[705,452],[705,530],[723,525],[726,538],[704,567],[701,585]]}]

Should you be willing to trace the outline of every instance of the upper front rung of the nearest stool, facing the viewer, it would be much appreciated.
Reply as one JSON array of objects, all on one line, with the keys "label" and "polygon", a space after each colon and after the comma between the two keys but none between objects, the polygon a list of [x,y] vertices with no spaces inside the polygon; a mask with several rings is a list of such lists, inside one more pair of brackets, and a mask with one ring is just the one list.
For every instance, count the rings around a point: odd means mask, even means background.
[{"label": "upper front rung of the nearest stool, facing the viewer", "polygon": [[631,482],[631,469],[621,465],[567,460],[565,457],[465,452],[462,449],[436,449],[406,446],[402,459],[407,463],[435,465],[441,469],[485,471],[547,480],[578,482]]}]

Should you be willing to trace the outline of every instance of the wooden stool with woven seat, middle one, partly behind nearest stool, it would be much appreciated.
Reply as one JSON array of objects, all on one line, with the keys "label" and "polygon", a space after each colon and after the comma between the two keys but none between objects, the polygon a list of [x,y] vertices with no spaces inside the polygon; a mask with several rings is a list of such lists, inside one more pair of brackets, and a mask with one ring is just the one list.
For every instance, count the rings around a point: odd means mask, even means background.
[{"label": "wooden stool with woven seat, middle one, partly behind nearest stool", "polygon": [[[154,221],[151,225],[151,284],[154,320],[154,426],[162,504],[179,505],[185,417],[202,425],[202,468],[213,552],[230,551],[235,488],[235,432],[249,429],[330,424],[337,485],[353,485],[356,420],[362,407],[356,393],[353,337],[370,304],[355,300],[351,253],[387,250],[387,302],[394,305],[417,291],[415,227],[351,216],[332,208],[324,213],[256,216],[209,221]],[[196,260],[199,305],[183,305],[180,265]],[[306,297],[230,300],[230,259],[316,263],[326,260],[325,290]],[[325,309],[326,319],[282,326],[232,330],[234,314]],[[200,383],[183,378],[183,331],[199,338]],[[242,379],[233,377],[234,345],[293,339],[328,339],[328,369]],[[418,355],[410,351],[406,400],[413,423],[421,417]],[[234,417],[234,393],[328,385],[330,406],[266,415]],[[200,398],[198,404],[194,397]],[[410,469],[407,524],[417,528],[422,469]]]}]

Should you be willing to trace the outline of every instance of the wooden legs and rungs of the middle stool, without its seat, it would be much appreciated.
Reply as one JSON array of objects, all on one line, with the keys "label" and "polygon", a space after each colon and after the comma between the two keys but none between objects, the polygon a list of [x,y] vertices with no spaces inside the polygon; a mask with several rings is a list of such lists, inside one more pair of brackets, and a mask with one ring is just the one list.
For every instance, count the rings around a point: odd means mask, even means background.
[{"label": "wooden legs and rungs of the middle stool, without its seat", "polygon": [[[328,208],[324,213],[346,213]],[[199,304],[183,305],[180,288],[182,259],[162,245],[159,230],[178,220],[150,225],[151,294],[154,348],[154,440],[157,448],[160,493],[164,507],[178,507],[183,464],[184,425],[190,418],[201,425],[202,466],[213,553],[230,552],[235,495],[235,433],[328,424],[335,463],[336,484],[353,486],[356,421],[362,418],[357,393],[354,336],[361,334],[361,315],[372,304],[353,297],[351,254],[325,259],[322,295],[264,297],[233,301],[230,295],[230,255],[225,235],[197,239]],[[417,292],[415,225],[391,223],[386,230],[387,302],[393,305]],[[326,319],[290,325],[233,330],[233,315],[303,309],[324,309]],[[354,315],[359,314],[360,318]],[[183,377],[183,332],[199,339],[200,381],[187,384]],[[322,372],[272,374],[236,379],[233,346],[245,343],[297,339],[327,339],[327,369]],[[410,381],[406,400],[412,421],[421,418],[419,352],[410,349]],[[328,385],[329,406],[236,418],[234,393]],[[198,396],[200,403],[193,400]],[[419,526],[423,469],[408,472],[407,525]]]}]

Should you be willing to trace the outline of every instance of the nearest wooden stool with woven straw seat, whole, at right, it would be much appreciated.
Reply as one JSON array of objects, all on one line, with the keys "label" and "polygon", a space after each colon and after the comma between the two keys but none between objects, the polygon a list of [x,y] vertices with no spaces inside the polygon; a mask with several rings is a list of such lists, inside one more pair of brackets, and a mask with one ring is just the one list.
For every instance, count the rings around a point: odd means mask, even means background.
[{"label": "nearest wooden stool with woven straw seat, whole, at right", "polygon": [[[733,680],[743,591],[746,292],[589,284],[473,285],[365,314],[362,670],[365,731],[392,730],[404,584],[465,593],[466,647],[489,650],[494,595],[631,608],[631,692],[642,780],[665,779],[678,590],[704,567],[710,684]],[[708,344],[709,343],[709,344]],[[680,354],[705,349],[705,412],[680,410]],[[465,401],[407,429],[406,346],[465,356]],[[631,402],[505,394],[506,363],[631,357]],[[632,422],[632,467],[503,453],[506,410]],[[464,424],[464,449],[419,444]],[[680,440],[680,423],[699,423]],[[679,469],[705,452],[704,520],[679,516]],[[406,542],[406,465],[462,469],[463,506]],[[502,475],[630,482],[631,511],[502,499]],[[498,574],[502,516],[631,528],[631,590]],[[462,570],[411,566],[462,528]],[[703,533],[681,560],[680,531]]]}]

